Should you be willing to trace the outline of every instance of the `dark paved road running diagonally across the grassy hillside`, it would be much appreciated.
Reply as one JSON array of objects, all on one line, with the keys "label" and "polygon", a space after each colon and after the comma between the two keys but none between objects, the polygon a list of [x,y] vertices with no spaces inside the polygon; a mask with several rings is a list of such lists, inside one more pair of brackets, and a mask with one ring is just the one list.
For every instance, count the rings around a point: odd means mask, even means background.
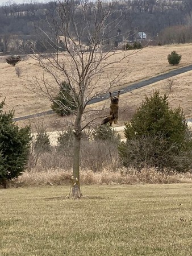
[{"label": "dark paved road running diagonally across the grassy hillside", "polygon": [[[147,79],[147,80],[144,80],[144,81],[141,81],[141,82],[135,82],[131,85],[125,86],[124,88],[121,88],[120,91],[121,91],[121,94],[131,92],[132,90],[142,88],[142,87],[147,86],[149,84],[153,84],[154,82],[158,82],[158,81],[161,81],[161,80],[164,80],[164,79],[168,79],[169,77],[177,76],[177,75],[180,75],[180,74],[188,72],[188,71],[192,71],[192,65],[189,65],[187,67],[174,69],[170,72],[163,73],[161,75],[158,75],[156,77],[152,77],[150,79]],[[97,102],[101,102],[103,100],[106,100],[109,97],[110,96],[109,96],[108,93],[107,94],[106,93],[105,94],[100,94],[100,95],[98,95],[98,97],[93,98],[88,103],[88,105],[94,104],[94,103],[97,103]],[[54,112],[52,110],[48,110],[48,111],[40,112],[40,113],[36,113],[36,114],[24,115],[23,117],[15,117],[14,121],[20,121],[20,120],[30,119],[30,118],[34,118],[34,117],[40,117],[42,115],[49,115],[49,114],[53,114],[53,113]]]}]

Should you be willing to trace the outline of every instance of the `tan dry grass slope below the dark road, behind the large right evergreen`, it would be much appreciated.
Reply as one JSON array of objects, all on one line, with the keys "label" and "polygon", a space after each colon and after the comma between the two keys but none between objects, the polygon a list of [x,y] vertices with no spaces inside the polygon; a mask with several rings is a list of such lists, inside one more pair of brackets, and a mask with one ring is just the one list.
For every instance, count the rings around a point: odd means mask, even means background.
[{"label": "tan dry grass slope below the dark road, behind the large right evergreen", "polygon": [[[119,101],[119,125],[123,125],[137,107],[144,100],[145,96],[150,96],[153,90],[160,90],[161,94],[169,94],[169,105],[171,108],[178,108],[181,106],[186,118],[192,117],[192,85],[191,85],[192,71],[174,76],[170,79],[165,79],[154,84],[127,92],[120,96]],[[172,82],[171,92],[169,91],[169,84]],[[109,111],[110,100],[105,102],[106,113]],[[89,108],[102,108],[103,102],[93,104]]]}]

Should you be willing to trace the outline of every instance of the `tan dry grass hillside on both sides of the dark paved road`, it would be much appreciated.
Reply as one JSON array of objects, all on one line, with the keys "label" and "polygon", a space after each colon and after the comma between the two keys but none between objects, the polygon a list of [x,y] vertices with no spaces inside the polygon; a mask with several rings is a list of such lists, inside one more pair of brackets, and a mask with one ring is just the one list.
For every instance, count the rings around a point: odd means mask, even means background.
[{"label": "tan dry grass hillside on both sides of the dark paved road", "polygon": [[[126,61],[122,64],[113,65],[102,74],[99,80],[99,88],[103,88],[106,83],[115,76],[115,73],[123,69],[123,79],[118,81],[113,90],[121,88],[131,82],[143,80],[160,73],[168,72],[171,69],[189,65],[192,63],[192,44],[161,46],[161,47],[147,47],[135,54],[128,56]],[[170,66],[167,56],[171,51],[176,51],[182,55],[181,63],[177,67]],[[127,55],[133,53],[126,51]],[[121,53],[125,54],[125,52]],[[121,55],[120,55],[121,56]],[[114,58],[114,57],[113,57]],[[114,59],[113,59],[114,60]],[[47,98],[39,96],[27,88],[34,77],[46,78],[46,74],[37,65],[35,60],[29,58],[27,61],[21,61],[16,65],[22,73],[20,77],[16,75],[15,67],[3,62],[0,63],[1,89],[2,97],[6,97],[5,110],[15,109],[15,117],[27,114],[33,114],[50,109],[50,102]],[[50,77],[47,76],[49,80]],[[173,77],[173,92],[170,94],[170,104],[173,107],[181,105],[186,116],[191,116],[192,105],[192,89],[191,89],[191,72],[184,75]],[[53,85],[54,86],[54,85]],[[27,87],[27,88],[26,88]],[[162,92],[168,92],[166,88],[166,81],[161,81],[156,84],[147,86],[147,88],[137,89],[134,94],[127,93],[122,96],[120,102],[121,111],[132,112],[143,100],[145,94],[149,94],[153,89],[161,89]],[[103,102],[98,104],[103,106]],[[107,105],[106,105],[107,106]],[[92,108],[92,107],[91,107]],[[95,106],[93,106],[95,108]],[[124,118],[122,118],[124,119]]]}]

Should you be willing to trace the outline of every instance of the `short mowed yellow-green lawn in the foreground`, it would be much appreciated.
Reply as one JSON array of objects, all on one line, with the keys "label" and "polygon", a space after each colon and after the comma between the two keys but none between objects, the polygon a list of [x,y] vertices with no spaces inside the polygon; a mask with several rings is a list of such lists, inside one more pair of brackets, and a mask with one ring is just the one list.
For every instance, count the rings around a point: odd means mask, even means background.
[{"label": "short mowed yellow-green lawn in the foreground", "polygon": [[1,189],[0,255],[191,255],[191,184]]}]

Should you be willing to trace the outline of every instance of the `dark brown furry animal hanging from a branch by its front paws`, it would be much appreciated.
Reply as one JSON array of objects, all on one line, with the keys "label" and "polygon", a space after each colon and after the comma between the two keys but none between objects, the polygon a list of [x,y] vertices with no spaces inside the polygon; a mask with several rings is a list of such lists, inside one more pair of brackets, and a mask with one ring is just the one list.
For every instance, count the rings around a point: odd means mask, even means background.
[{"label": "dark brown furry animal hanging from a branch by its front paws", "polygon": [[118,123],[120,90],[118,91],[117,96],[112,97],[111,92],[109,94],[110,94],[110,99],[111,99],[110,115],[103,120],[101,125],[105,125],[105,123],[108,123],[108,122],[110,123],[110,125],[112,125],[112,122]]}]

